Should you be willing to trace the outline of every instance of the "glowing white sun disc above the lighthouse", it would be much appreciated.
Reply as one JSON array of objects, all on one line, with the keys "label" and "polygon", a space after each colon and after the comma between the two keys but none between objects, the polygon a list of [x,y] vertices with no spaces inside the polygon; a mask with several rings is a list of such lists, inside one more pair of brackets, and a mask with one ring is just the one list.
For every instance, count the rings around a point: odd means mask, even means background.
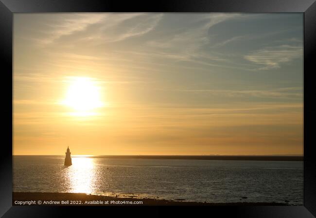
[{"label": "glowing white sun disc above the lighthouse", "polygon": [[63,104],[79,113],[104,106],[100,100],[100,87],[89,77],[71,77]]}]

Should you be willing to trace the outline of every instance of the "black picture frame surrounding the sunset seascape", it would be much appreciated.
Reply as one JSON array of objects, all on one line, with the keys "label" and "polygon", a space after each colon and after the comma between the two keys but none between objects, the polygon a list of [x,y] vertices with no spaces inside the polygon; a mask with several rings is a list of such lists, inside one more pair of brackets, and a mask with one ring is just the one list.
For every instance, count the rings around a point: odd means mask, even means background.
[{"label": "black picture frame surrounding the sunset seascape", "polygon": [[[304,206],[199,206],[199,207],[54,207],[12,206],[12,55],[13,14],[46,12],[240,12],[304,14]],[[92,216],[210,215],[214,217],[312,218],[316,216],[316,140],[313,137],[315,113],[313,73],[316,73],[315,0],[0,0],[1,96],[4,113],[0,151],[0,216],[63,217],[69,214]],[[203,216],[205,216],[203,215]],[[96,216],[96,215],[94,215]]]}]

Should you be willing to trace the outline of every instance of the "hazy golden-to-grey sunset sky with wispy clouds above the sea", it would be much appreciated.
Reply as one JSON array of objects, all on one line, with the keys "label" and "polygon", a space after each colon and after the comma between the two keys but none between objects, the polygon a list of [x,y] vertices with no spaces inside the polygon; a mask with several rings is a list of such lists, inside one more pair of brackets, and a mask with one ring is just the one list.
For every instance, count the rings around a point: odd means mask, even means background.
[{"label": "hazy golden-to-grey sunset sky with wispy clouds above the sea", "polygon": [[303,14],[14,14],[14,155],[302,155]]}]

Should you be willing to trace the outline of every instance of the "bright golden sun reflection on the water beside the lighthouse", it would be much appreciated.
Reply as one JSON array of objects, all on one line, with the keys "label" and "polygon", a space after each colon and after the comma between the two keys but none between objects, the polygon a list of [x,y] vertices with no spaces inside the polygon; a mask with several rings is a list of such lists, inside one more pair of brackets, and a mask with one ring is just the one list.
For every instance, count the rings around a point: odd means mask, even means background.
[{"label": "bright golden sun reflection on the water beside the lighthouse", "polygon": [[72,165],[68,168],[71,193],[92,193],[95,187],[94,159],[73,157]]}]

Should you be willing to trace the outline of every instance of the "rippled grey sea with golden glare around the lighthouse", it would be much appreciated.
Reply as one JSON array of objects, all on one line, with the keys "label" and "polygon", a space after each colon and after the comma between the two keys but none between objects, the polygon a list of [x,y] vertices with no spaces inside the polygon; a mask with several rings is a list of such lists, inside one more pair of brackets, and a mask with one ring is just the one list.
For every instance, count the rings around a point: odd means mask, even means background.
[{"label": "rippled grey sea with golden glare around the lighthouse", "polygon": [[13,191],[303,205],[303,162],[13,156]]}]

